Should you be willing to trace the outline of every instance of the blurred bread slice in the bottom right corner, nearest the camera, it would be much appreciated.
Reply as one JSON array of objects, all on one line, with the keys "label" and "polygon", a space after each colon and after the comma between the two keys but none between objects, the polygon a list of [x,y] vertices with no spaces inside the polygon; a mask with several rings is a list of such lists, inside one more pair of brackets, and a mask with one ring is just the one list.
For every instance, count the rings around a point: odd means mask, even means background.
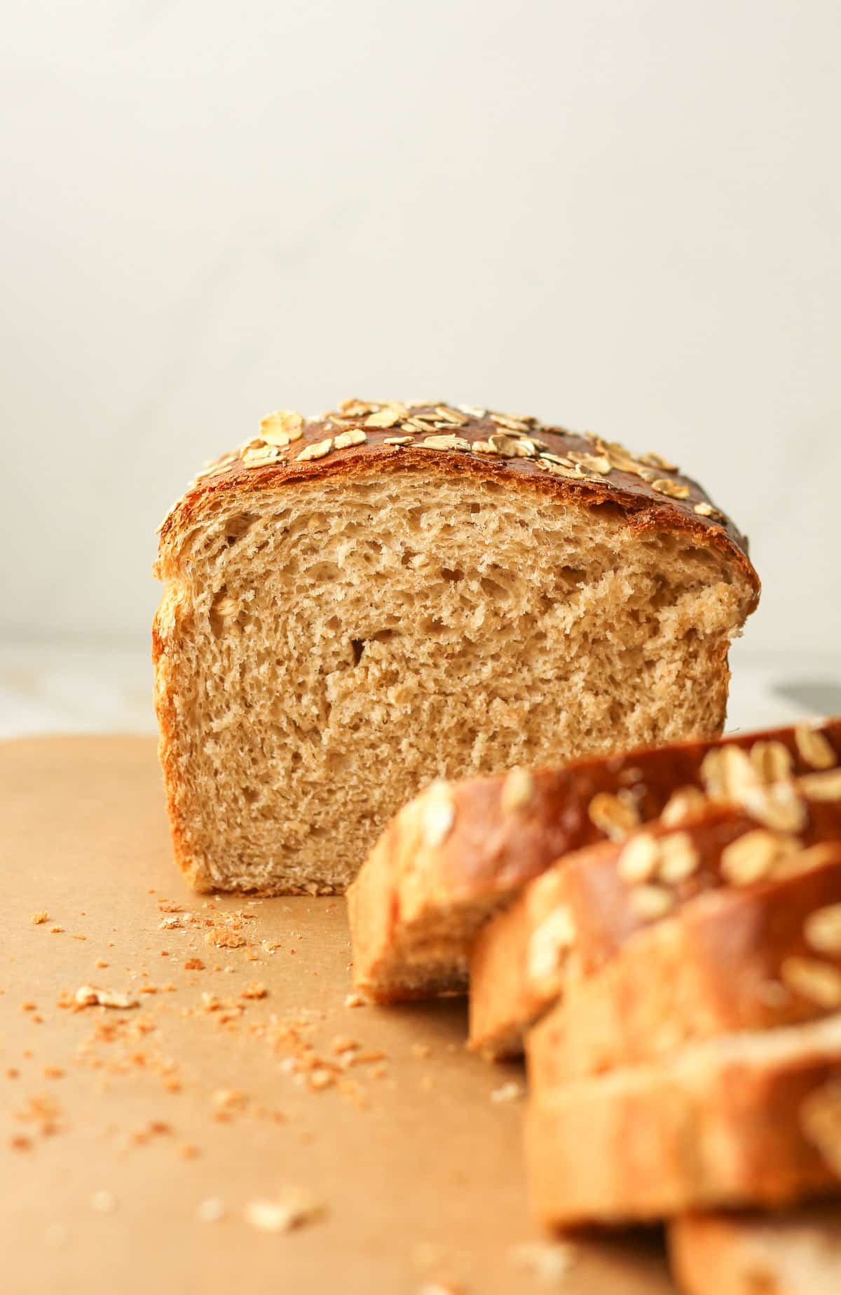
[{"label": "blurred bread slice in the bottom right corner, nearest the camera", "polygon": [[669,1224],[683,1295],[838,1295],[841,1206],[683,1215]]}]

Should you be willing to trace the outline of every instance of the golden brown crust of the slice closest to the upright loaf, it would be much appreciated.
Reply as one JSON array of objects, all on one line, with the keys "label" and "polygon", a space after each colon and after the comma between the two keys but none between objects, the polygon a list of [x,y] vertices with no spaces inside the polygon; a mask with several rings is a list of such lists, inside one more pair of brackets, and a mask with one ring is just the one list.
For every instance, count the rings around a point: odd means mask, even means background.
[{"label": "golden brown crust of the slice closest to the upright loaf", "polygon": [[[836,754],[841,754],[841,721],[824,732]],[[512,774],[468,778],[446,786],[452,826],[435,844],[428,844],[423,835],[426,798],[431,795],[423,793],[397,816],[382,848],[378,846],[379,883],[370,881],[366,862],[351,887],[351,894],[355,887],[357,892],[351,908],[351,932],[358,987],[379,1001],[400,998],[392,978],[400,965],[401,945],[413,939],[413,932],[423,938],[424,930],[448,919],[458,927],[458,936],[452,940],[453,962],[464,963],[479,927],[494,906],[510,903],[555,860],[604,840],[604,828],[590,816],[598,795],[629,795],[633,789],[639,821],[651,822],[675,787],[697,782],[712,747],[745,747],[757,741],[781,743],[792,754],[794,769],[807,769],[794,730],[788,728],[537,769],[527,776],[528,796],[514,808],[506,799]],[[823,809],[820,815],[823,821]],[[616,869],[616,853],[608,851],[607,857],[613,860],[607,868],[609,877]],[[374,908],[377,917],[367,912]],[[607,905],[606,912],[611,912]],[[362,919],[377,931],[377,940],[361,938]],[[461,983],[466,983],[466,976]]]}]

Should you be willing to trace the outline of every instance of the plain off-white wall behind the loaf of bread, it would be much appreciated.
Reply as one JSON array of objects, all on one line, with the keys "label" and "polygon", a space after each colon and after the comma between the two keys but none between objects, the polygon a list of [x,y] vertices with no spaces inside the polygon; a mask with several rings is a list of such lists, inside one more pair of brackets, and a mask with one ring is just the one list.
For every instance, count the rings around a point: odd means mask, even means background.
[{"label": "plain off-white wall behind the loaf of bread", "polygon": [[431,396],[677,457],[745,648],[838,673],[840,54],[837,0],[6,6],[4,649],[145,653],[202,460]]}]

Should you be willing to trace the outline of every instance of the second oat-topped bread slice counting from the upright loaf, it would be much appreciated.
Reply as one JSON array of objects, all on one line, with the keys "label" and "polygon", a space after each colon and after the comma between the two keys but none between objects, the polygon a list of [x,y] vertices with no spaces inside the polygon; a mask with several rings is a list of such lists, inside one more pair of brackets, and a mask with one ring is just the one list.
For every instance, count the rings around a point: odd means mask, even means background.
[{"label": "second oat-topped bread slice counting from the upright loaf", "polygon": [[[837,721],[819,732],[828,747],[832,742],[841,746]],[[815,786],[810,777],[806,787]],[[811,800],[796,789],[787,803],[780,799],[781,789],[774,793],[771,820],[788,822],[789,829],[800,825],[797,833],[759,826],[763,815],[769,817],[762,800],[754,800],[750,812],[708,803],[674,826],[670,820],[652,822],[626,840],[563,856],[476,938],[470,962],[470,1045],[489,1057],[518,1055],[523,1031],[556,1001],[571,949],[577,969],[591,974],[655,917],[728,883],[728,868],[736,869],[736,881],[739,869],[744,881],[759,879],[761,869],[770,875],[784,868],[794,846],[841,840],[841,780],[837,791],[837,800]],[[775,820],[783,804],[791,817]],[[638,884],[625,879],[629,861],[642,873]]]}]

